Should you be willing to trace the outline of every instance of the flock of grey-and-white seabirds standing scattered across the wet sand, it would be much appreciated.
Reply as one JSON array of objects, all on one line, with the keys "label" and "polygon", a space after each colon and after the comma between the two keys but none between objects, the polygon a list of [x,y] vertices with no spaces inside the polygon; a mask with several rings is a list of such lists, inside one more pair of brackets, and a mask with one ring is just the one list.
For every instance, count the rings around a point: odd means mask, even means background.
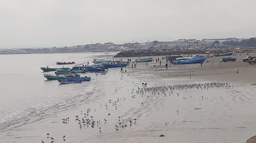
[{"label": "flock of grey-and-white seabirds standing scattered across the wet sand", "polygon": [[[131,90],[131,98],[136,98],[136,96],[140,96],[140,97],[149,97],[149,96],[154,96],[154,95],[163,95],[163,96],[167,96],[166,92],[169,92],[169,96],[174,95],[173,92],[175,90],[187,90],[187,89],[197,89],[197,90],[203,90],[206,89],[208,90],[209,88],[219,88],[219,87],[223,87],[223,88],[230,88],[231,85],[229,83],[219,83],[219,82],[211,82],[211,83],[199,83],[199,84],[184,84],[184,85],[173,85],[173,86],[159,86],[159,87],[147,87],[147,83],[142,83],[142,87],[138,87],[138,90]],[[233,86],[232,86],[233,87]],[[129,89],[127,89],[127,91],[129,91]],[[135,94],[136,93],[136,94]],[[179,96],[179,93],[177,92],[177,96]],[[192,98],[192,95],[190,96]],[[204,99],[204,97],[202,96],[202,100]],[[126,98],[117,98],[116,100],[108,100],[108,103],[105,103],[104,107],[106,108],[106,110],[108,110],[108,107],[114,107],[115,109],[117,109],[117,105],[118,102],[120,100],[125,101]],[[140,104],[144,104],[144,102],[140,103]],[[103,107],[103,104],[100,103],[100,107]],[[88,108],[86,109],[85,112],[80,111],[80,115],[75,115],[75,121],[78,122],[78,126],[80,129],[82,129],[82,127],[92,127],[94,128],[95,126],[97,126],[99,128],[99,133],[101,133],[101,119],[95,119],[93,116],[91,116],[90,112],[92,112],[92,110],[94,110],[94,112],[96,112],[96,108],[91,109]],[[179,113],[179,110],[176,110],[176,113]],[[110,116],[110,113],[107,114],[108,116]],[[136,124],[136,120],[135,118],[128,118],[128,119],[122,119],[120,116],[117,117],[118,123],[115,125],[115,130],[118,131],[119,129],[125,128],[127,127],[127,125],[132,126],[132,124]],[[107,119],[104,118],[104,125],[107,123]],[[62,119],[62,123],[67,124],[69,122],[69,117],[67,118],[63,118]],[[169,122],[164,122],[165,125],[168,125]],[[49,133],[47,133],[47,139],[49,138]],[[161,135],[162,136],[162,135]],[[164,136],[164,135],[163,135]],[[50,137],[51,139],[51,143],[54,143],[54,138]],[[65,136],[63,136],[63,141],[65,141]],[[41,141],[42,143],[44,143],[44,141]]]}]

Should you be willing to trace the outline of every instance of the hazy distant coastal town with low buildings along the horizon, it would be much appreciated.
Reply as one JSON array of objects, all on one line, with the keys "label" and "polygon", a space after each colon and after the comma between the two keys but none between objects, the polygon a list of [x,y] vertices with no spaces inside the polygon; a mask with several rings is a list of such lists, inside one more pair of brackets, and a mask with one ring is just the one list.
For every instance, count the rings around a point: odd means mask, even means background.
[{"label": "hazy distant coastal town with low buildings along the horizon", "polygon": [[72,47],[48,48],[8,48],[0,49],[0,54],[28,54],[28,53],[64,53],[64,52],[107,52],[129,50],[162,50],[162,49],[212,49],[212,48],[245,48],[256,47],[256,38],[225,38],[225,39],[178,39],[175,41],[131,42],[123,44],[91,43]]}]

